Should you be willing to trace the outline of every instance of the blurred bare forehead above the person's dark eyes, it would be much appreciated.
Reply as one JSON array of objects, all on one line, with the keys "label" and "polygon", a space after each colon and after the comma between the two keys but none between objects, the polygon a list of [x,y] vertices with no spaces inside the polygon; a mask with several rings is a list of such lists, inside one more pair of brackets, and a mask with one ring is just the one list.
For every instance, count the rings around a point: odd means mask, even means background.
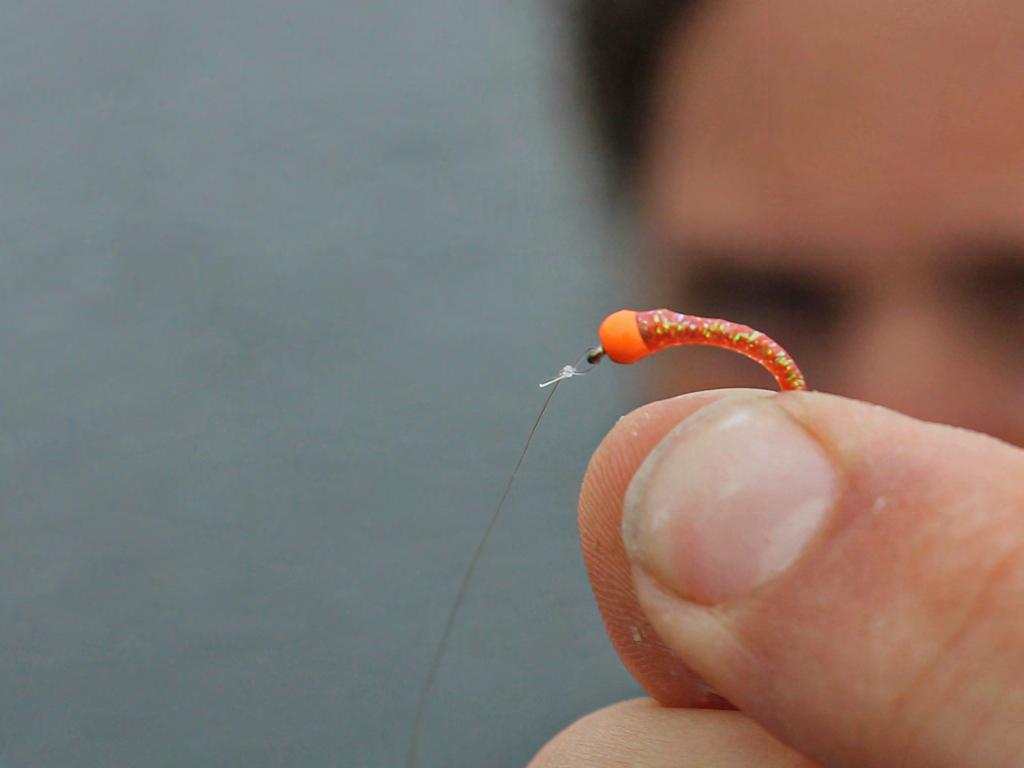
[{"label": "blurred bare forehead above the person's dark eyes", "polygon": [[1020,238],[1024,3],[712,0],[669,39],[650,125],[657,234]]}]

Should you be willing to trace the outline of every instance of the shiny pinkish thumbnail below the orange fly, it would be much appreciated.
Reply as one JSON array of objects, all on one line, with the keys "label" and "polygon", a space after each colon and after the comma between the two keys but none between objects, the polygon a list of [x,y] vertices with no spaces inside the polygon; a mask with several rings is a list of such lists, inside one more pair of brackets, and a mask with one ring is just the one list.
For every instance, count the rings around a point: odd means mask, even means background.
[{"label": "shiny pinkish thumbnail below the orange fly", "polygon": [[774,398],[726,399],[682,422],[641,465],[623,538],[663,586],[715,604],[785,570],[836,489],[828,456]]}]

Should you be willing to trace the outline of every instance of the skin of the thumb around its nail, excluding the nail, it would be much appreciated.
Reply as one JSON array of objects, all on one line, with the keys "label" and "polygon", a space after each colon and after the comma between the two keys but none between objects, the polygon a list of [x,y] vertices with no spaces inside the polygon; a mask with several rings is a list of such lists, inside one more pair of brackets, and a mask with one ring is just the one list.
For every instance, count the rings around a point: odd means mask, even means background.
[{"label": "skin of the thumb around its nail, excluding the nail", "polygon": [[822,764],[1024,765],[1024,452],[820,393],[776,401],[841,467],[837,507],[726,604],[638,569],[658,636]]}]

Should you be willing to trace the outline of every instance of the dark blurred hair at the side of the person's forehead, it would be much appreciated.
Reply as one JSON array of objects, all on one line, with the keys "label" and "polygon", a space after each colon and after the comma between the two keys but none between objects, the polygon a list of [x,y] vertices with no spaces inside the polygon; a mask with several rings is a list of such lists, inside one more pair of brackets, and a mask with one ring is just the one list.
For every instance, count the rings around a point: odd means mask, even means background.
[{"label": "dark blurred hair at the side of the person's forehead", "polygon": [[582,90],[616,187],[639,158],[665,39],[695,0],[570,0]]}]

